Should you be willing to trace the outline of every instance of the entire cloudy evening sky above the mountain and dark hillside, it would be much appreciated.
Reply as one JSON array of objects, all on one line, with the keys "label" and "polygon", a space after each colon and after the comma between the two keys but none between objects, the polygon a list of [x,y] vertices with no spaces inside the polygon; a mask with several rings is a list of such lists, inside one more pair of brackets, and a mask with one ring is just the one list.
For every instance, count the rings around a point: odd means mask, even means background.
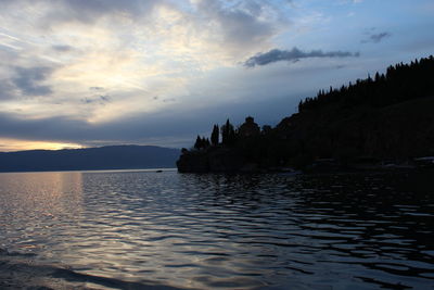
[{"label": "entire cloudy evening sky above the mountain and dark hillside", "polygon": [[432,0],[0,0],[0,151],[189,148],[434,54]]}]

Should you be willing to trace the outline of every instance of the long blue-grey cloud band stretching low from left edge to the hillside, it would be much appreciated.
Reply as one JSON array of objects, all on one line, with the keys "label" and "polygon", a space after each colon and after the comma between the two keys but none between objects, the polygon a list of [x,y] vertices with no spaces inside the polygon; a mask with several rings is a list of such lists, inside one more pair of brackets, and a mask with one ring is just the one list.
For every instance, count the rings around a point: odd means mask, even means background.
[{"label": "long blue-grey cloud band stretching low from left edge to the hillside", "polygon": [[[279,86],[283,87],[283,86]],[[97,97],[97,96],[95,96]],[[173,104],[173,99],[159,99]],[[99,100],[90,100],[84,105],[98,105]],[[86,100],[82,100],[86,102]],[[282,104],[284,102],[284,105]],[[288,94],[282,101],[269,102],[248,98],[238,102],[238,105],[220,103],[204,106],[202,110],[180,108],[173,104],[169,110],[150,112],[146,114],[128,114],[123,118],[110,119],[104,123],[93,123],[78,119],[75,116],[51,116],[27,118],[16,112],[0,111],[0,138],[21,140],[56,141],[80,144],[102,146],[110,143],[148,143],[176,147],[191,146],[197,133],[209,134],[212,125],[222,123],[230,117],[234,124],[240,124],[248,114],[254,114],[260,122],[264,116],[272,115],[278,118],[285,112],[291,99]],[[229,104],[232,104],[230,102]],[[296,102],[294,101],[294,106]],[[279,111],[280,110],[280,111]],[[235,116],[240,115],[237,119]],[[259,112],[263,114],[260,117]],[[278,115],[278,116],[277,116]],[[283,114],[282,114],[283,116]],[[169,140],[170,139],[170,140]],[[169,143],[168,143],[169,141]]]}]

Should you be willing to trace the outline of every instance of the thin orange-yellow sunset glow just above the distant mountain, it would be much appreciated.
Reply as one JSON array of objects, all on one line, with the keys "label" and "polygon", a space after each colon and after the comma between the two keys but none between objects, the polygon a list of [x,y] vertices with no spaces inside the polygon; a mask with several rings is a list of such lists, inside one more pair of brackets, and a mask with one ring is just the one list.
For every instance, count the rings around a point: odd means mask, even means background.
[{"label": "thin orange-yellow sunset glow just above the distant mountain", "polygon": [[59,141],[34,141],[0,138],[0,152],[14,152],[23,150],[61,150],[85,148],[78,143]]}]

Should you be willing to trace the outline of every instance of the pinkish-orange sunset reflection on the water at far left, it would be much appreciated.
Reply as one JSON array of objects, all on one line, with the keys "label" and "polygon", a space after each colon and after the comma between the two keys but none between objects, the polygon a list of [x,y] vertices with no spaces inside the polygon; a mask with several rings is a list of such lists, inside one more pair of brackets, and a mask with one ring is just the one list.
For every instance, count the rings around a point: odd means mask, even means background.
[{"label": "pinkish-orange sunset reflection on the water at far left", "polygon": [[47,245],[82,207],[80,173],[0,174],[0,248]]}]

